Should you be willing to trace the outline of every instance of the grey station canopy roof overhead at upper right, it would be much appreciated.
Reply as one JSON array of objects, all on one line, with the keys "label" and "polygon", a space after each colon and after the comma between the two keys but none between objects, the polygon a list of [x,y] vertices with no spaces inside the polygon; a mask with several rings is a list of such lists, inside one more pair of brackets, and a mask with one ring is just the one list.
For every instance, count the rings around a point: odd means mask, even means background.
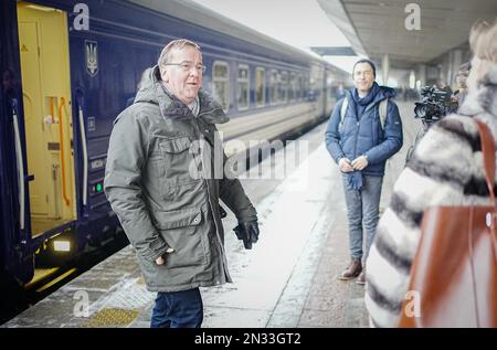
[{"label": "grey station canopy roof overhead at upper right", "polygon": [[417,0],[421,30],[406,30],[412,0],[317,0],[358,54],[377,62],[385,53],[396,68],[429,63],[465,45],[477,19],[497,17],[496,0]]}]

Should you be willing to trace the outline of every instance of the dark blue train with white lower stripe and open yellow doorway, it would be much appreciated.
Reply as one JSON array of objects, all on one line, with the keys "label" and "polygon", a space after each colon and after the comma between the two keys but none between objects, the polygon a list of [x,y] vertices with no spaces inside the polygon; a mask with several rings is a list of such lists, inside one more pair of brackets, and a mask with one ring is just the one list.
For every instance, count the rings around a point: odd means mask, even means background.
[{"label": "dark blue train with white lower stripe and open yellow doorway", "polygon": [[189,1],[6,0],[0,10],[2,284],[32,284],[39,257],[74,257],[119,231],[103,193],[112,121],[170,40],[201,45],[203,87],[232,118],[221,127],[228,153],[328,116],[332,84],[347,76]]}]

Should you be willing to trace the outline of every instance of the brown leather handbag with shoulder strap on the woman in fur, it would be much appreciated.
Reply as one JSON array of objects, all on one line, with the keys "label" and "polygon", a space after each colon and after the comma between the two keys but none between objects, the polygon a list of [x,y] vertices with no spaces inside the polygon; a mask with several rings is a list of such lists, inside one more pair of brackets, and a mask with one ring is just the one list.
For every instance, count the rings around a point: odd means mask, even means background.
[{"label": "brown leather handbag with shoulder strap on the woman in fur", "polygon": [[425,210],[399,327],[497,327],[495,142],[477,124],[490,203]]}]

